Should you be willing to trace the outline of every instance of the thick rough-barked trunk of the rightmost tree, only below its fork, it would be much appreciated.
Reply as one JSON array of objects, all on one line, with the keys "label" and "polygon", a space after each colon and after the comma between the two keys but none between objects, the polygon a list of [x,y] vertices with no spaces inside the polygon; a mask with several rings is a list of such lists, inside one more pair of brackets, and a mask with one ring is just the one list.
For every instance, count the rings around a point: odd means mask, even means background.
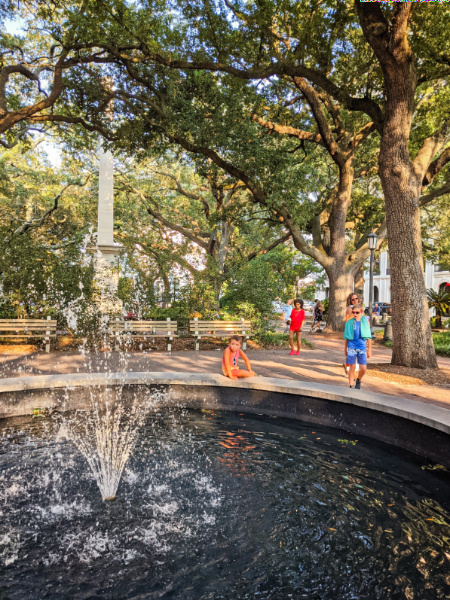
[{"label": "thick rough-barked trunk of the rightmost tree, only below its fork", "polygon": [[420,228],[420,177],[409,155],[408,139],[415,80],[408,61],[385,69],[389,90],[381,138],[379,173],[383,186],[389,258],[393,351],[392,364],[436,368],[431,334]]}]

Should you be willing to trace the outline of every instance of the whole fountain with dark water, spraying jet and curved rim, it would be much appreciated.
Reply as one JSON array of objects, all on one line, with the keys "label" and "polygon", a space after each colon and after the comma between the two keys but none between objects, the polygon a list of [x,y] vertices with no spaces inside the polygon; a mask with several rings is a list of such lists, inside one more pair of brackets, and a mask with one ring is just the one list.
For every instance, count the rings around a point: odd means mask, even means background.
[{"label": "whole fountain with dark water, spraying jet and curved rim", "polygon": [[5,598],[448,597],[438,413],[280,380],[126,373],[67,385],[3,386],[2,410],[22,415],[0,419]]}]

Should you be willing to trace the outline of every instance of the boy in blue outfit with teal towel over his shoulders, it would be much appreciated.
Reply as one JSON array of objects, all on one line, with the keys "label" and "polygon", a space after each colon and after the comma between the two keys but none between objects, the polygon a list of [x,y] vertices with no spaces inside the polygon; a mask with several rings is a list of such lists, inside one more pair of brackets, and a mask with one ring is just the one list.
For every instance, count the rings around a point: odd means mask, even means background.
[{"label": "boy in blue outfit with teal towel over his shoulders", "polygon": [[[372,333],[370,325],[364,318],[364,307],[355,304],[352,307],[352,318],[345,324],[345,355],[349,365],[348,383],[351,388],[361,389],[361,380],[367,369],[367,359],[372,356]],[[359,371],[355,382],[355,367],[359,364]]]}]

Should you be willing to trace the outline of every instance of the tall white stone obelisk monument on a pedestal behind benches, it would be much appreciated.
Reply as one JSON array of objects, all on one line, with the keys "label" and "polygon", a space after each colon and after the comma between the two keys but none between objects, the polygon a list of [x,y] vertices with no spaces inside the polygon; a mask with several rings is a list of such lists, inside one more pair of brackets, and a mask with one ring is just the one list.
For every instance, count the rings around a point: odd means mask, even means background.
[{"label": "tall white stone obelisk monument on a pedestal behind benches", "polygon": [[117,257],[121,246],[114,245],[114,166],[109,150],[99,150],[98,225],[95,256],[95,281],[99,289],[99,305],[104,313],[122,310],[117,298],[119,270]]}]

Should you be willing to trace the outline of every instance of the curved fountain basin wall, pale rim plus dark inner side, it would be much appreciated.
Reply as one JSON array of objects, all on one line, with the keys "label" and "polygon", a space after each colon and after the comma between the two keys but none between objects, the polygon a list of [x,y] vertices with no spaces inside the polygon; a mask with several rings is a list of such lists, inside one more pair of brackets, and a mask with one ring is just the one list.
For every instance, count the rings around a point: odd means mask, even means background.
[{"label": "curved fountain basin wall, pale rim plus dark inner side", "polygon": [[116,386],[122,386],[124,393],[140,386],[167,392],[168,406],[233,410],[336,427],[450,467],[450,410],[396,396],[278,378],[231,381],[210,373],[126,372],[3,379],[0,418],[62,404],[66,409],[85,408],[86,389]]}]

